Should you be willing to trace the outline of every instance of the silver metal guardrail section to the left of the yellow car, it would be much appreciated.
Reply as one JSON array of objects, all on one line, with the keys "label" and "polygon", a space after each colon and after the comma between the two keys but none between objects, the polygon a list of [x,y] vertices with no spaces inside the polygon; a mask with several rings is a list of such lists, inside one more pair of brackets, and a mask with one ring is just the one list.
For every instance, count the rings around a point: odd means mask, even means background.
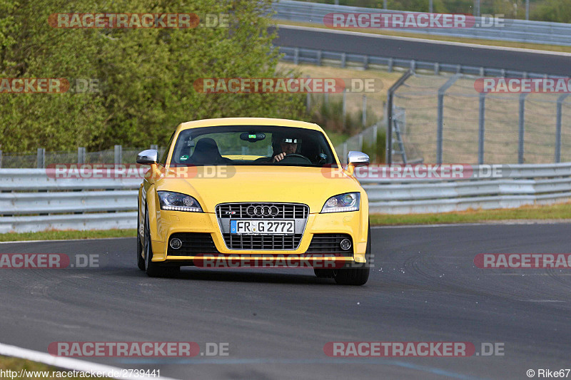
[{"label": "silver metal guardrail section to the left of the yellow car", "polygon": [[54,178],[0,169],[0,233],[136,228],[138,178]]}]

